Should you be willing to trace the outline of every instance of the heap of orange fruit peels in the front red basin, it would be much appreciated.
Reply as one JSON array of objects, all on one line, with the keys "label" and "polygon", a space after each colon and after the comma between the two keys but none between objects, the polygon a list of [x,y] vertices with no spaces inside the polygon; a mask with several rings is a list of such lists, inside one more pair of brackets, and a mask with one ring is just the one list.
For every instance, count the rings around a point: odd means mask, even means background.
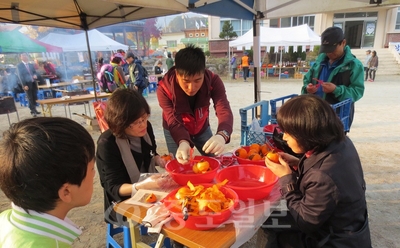
[{"label": "heap of orange fruit peels in the front red basin", "polygon": [[187,186],[178,190],[175,194],[177,199],[175,206],[178,209],[186,207],[189,215],[208,215],[221,212],[234,204],[233,199],[226,198],[219,188],[225,185],[228,180],[214,184],[211,187],[203,185],[194,186],[190,181]]}]

